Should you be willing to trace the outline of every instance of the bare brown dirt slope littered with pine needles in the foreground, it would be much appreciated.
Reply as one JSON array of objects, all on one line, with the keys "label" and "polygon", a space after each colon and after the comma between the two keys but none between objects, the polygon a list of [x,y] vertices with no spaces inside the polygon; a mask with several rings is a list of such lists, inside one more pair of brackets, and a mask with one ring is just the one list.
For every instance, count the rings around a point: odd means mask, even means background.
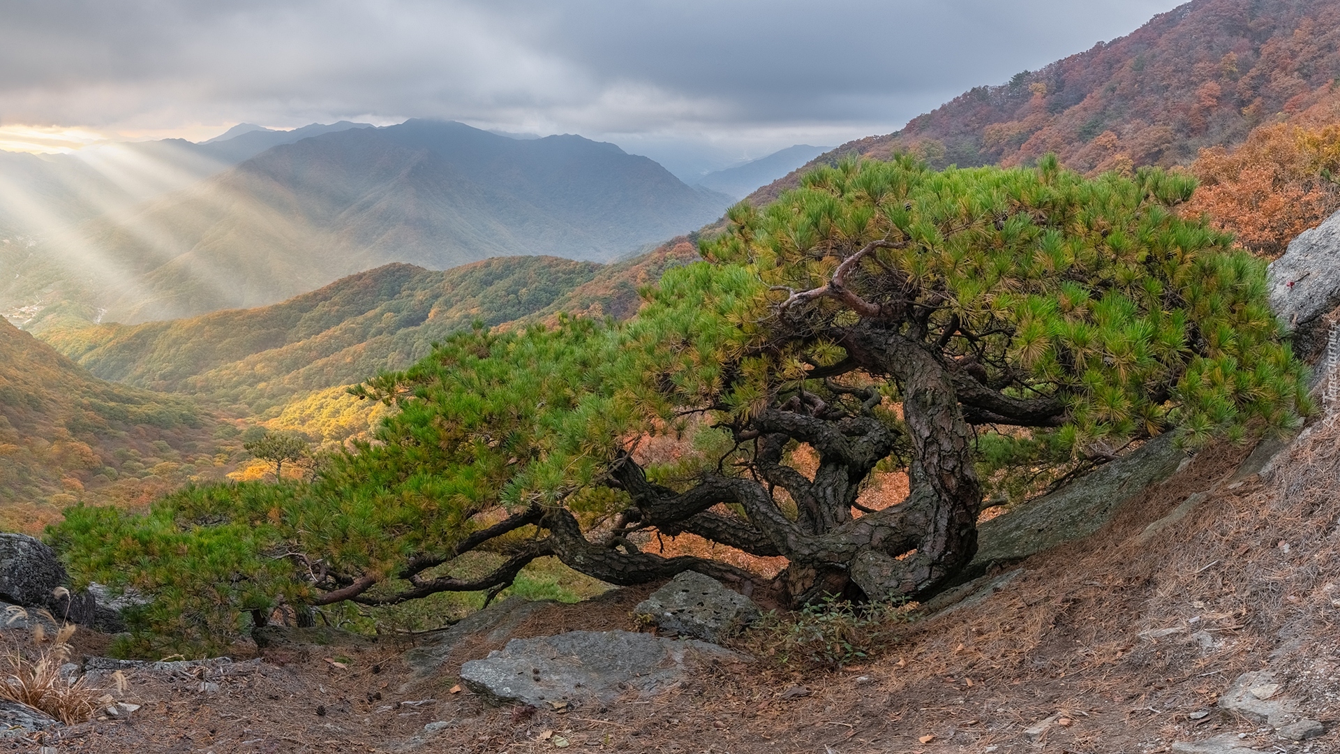
[{"label": "bare brown dirt slope littered with pine needles in the foreground", "polygon": [[[860,668],[721,665],[659,698],[532,714],[452,692],[460,663],[494,648],[482,641],[422,683],[389,644],[287,648],[217,691],[131,674],[125,696],[145,707],[130,720],[88,723],[48,745],[109,754],[1097,754],[1241,733],[1258,751],[1340,751],[1340,429],[1317,425],[1261,475],[1240,468],[1246,456],[1201,452],[1099,534],[1020,563],[1024,573],[980,604],[909,623]],[[1205,502],[1183,506],[1202,491]],[[1139,539],[1172,511],[1185,517]],[[553,605],[513,636],[632,628],[645,594]],[[1264,668],[1281,696],[1327,726],[1323,737],[1280,741],[1217,708],[1240,674]]]}]

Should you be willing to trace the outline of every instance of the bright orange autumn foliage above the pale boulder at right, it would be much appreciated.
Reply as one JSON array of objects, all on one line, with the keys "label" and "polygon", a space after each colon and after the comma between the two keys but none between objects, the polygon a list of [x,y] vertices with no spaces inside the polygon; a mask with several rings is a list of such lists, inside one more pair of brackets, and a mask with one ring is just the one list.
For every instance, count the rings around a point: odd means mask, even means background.
[{"label": "bright orange autumn foliage above the pale boulder at right", "polygon": [[1187,212],[1209,215],[1238,244],[1273,259],[1340,209],[1340,125],[1262,126],[1237,149],[1202,149],[1191,170],[1201,188]]}]

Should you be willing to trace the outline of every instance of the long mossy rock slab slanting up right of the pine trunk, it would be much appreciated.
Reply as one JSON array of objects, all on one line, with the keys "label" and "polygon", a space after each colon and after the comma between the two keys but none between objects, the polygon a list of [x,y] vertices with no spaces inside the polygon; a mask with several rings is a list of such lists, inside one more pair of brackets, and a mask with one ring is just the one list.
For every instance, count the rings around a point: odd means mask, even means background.
[{"label": "long mossy rock slab slanting up right of the pine trunk", "polygon": [[1051,495],[982,523],[969,574],[1093,534],[1127,500],[1172,476],[1185,459],[1186,453],[1172,445],[1172,433],[1166,432]]}]

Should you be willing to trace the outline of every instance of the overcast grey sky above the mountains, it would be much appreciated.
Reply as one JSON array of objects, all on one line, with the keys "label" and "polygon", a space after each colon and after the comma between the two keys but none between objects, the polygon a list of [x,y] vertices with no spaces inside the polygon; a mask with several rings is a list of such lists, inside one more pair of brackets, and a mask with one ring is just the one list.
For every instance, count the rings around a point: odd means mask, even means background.
[{"label": "overcast grey sky above the mountains", "polygon": [[431,117],[579,133],[683,172],[890,133],[1175,5],[0,0],[0,131],[202,140],[239,122]]}]

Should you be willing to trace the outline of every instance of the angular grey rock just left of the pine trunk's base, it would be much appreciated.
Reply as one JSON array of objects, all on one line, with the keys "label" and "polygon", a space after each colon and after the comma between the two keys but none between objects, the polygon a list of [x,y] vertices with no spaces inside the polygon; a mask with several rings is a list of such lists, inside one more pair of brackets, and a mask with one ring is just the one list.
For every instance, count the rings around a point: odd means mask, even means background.
[{"label": "angular grey rock just left of the pine trunk's base", "polygon": [[758,605],[716,578],[691,570],[670,580],[634,612],[650,616],[661,631],[674,636],[721,641],[753,623]]}]

